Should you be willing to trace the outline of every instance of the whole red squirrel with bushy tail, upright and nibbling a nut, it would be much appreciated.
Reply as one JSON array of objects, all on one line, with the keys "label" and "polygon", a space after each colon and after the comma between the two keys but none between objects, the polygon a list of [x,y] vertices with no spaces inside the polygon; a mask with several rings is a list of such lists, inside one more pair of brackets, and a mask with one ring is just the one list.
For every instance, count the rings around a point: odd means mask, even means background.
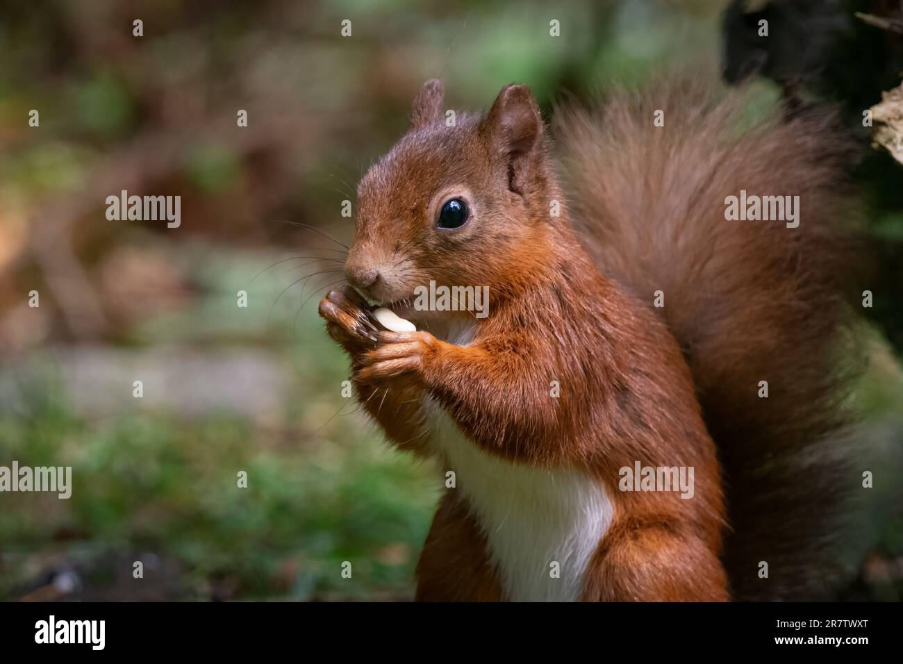
[{"label": "whole red squirrel with bushy tail, upright and nibbling a nut", "polygon": [[[320,304],[369,416],[454,472],[416,599],[815,596],[849,316],[830,117],[740,132],[696,83],[554,132],[522,85],[453,126],[442,103],[428,81],[359,183],[349,286]],[[801,222],[729,220],[741,190],[799,196]],[[415,307],[431,281],[488,286],[488,314]],[[625,482],[646,467],[692,469],[692,496]]]}]

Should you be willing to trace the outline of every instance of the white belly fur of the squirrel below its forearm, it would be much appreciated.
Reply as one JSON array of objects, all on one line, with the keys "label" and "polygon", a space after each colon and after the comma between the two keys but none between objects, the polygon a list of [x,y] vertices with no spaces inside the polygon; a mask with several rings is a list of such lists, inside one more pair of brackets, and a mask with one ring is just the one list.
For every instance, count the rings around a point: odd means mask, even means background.
[{"label": "white belly fur of the squirrel below its forearm", "polygon": [[[514,602],[579,600],[583,577],[611,523],[603,482],[572,470],[509,463],[482,452],[431,397],[424,403],[436,452],[479,520]],[[560,566],[552,578],[551,563]]]}]

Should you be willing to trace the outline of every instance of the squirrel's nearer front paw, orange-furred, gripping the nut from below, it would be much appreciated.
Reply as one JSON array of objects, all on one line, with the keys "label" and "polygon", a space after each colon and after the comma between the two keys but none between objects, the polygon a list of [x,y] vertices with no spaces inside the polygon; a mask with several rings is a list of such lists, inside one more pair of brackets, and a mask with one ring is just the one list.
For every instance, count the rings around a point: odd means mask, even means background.
[{"label": "squirrel's nearer front paw, orange-furred, gripping the nut from below", "polygon": [[382,383],[401,377],[417,379],[438,341],[429,332],[379,332],[379,345],[358,359],[353,378],[359,383]]}]

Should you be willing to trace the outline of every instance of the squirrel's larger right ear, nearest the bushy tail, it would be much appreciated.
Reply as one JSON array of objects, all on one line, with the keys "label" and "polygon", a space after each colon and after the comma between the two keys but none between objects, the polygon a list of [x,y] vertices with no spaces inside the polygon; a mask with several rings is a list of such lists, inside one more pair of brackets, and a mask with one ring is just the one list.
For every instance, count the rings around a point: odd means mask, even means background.
[{"label": "squirrel's larger right ear, nearest the bushy tail", "polygon": [[526,85],[502,88],[479,123],[479,134],[510,165],[511,191],[524,192],[526,174],[535,162],[543,136],[543,117],[530,89]]}]

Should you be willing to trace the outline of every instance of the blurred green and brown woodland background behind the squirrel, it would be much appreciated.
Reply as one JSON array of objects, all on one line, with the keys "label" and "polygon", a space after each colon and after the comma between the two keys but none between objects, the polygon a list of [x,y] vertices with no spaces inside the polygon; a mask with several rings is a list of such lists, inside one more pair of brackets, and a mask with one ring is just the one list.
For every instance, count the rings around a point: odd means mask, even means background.
[{"label": "blurred green and brown woodland background behind the squirrel", "polygon": [[[441,76],[454,108],[520,81],[545,109],[671,68],[714,79],[724,6],[6,0],[0,464],[74,479],[70,500],[0,495],[0,599],[410,599],[440,477],[342,397],[347,362],[316,315],[341,247],[295,224],[349,242],[342,201],[405,131],[424,79]],[[760,79],[750,115],[779,94]],[[873,159],[888,174],[864,194],[870,220],[903,238],[903,167]],[[182,226],[107,220],[124,189],[181,195]],[[873,458],[898,463],[903,380],[885,336],[870,332],[857,398]],[[889,483],[843,598],[903,593]]]}]

